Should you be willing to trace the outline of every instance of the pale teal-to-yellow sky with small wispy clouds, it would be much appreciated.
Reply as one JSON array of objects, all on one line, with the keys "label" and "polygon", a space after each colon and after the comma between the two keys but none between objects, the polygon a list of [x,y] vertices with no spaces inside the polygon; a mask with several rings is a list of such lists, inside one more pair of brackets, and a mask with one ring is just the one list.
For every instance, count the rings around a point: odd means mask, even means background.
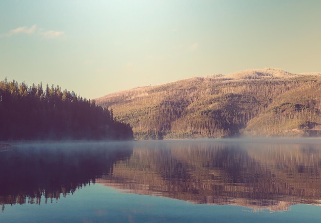
[{"label": "pale teal-to-yellow sky with small wispy clouds", "polygon": [[273,67],[321,71],[319,0],[0,0],[0,80],[83,98]]}]

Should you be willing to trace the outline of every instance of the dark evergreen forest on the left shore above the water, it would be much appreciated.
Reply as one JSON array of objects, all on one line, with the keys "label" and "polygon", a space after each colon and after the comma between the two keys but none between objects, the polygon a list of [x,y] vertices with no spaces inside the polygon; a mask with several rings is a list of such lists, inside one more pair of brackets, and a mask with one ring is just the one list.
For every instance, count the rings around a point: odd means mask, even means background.
[{"label": "dark evergreen forest on the left shore above the water", "polygon": [[52,85],[0,82],[0,140],[132,139],[112,109]]}]

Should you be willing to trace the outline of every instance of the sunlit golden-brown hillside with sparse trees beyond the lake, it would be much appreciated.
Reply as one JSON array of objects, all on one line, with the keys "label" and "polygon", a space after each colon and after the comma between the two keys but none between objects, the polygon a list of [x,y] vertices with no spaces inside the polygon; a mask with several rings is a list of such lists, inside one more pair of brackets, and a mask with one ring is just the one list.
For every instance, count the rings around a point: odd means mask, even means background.
[{"label": "sunlit golden-brown hillside with sparse trees beyond the lake", "polygon": [[138,87],[96,99],[136,139],[319,136],[320,73],[265,68]]}]

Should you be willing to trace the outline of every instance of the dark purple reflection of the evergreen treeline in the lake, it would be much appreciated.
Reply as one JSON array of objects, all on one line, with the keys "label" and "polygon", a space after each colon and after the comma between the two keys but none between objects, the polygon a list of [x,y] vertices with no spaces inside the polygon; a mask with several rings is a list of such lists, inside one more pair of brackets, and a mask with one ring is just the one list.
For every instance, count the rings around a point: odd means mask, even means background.
[{"label": "dark purple reflection of the evergreen treeline in the lake", "polygon": [[131,143],[19,144],[0,152],[0,205],[58,199],[112,173],[132,154]]}]

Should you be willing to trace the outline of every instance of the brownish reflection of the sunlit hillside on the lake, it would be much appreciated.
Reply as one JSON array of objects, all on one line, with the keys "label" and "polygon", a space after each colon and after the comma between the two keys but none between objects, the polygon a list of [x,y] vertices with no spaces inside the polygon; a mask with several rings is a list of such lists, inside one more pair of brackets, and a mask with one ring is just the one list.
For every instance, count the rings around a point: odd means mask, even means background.
[{"label": "brownish reflection of the sunlit hillside on the lake", "polygon": [[319,144],[141,142],[96,182],[195,203],[288,210],[321,205]]}]

